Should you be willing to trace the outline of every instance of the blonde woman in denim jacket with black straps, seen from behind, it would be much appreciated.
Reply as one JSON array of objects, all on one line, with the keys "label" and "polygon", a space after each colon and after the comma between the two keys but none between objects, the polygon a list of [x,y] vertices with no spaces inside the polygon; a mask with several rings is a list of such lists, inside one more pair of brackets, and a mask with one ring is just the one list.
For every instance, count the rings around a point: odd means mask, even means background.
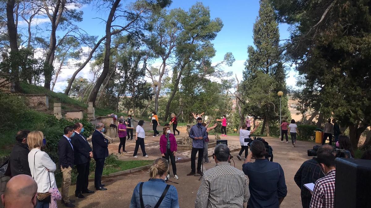
[{"label": "blonde woman in denim jacket with black straps, seen from behind", "polygon": [[157,158],[149,170],[150,180],[140,182],[134,188],[130,208],[178,208],[177,189],[165,183],[168,171],[168,161]]}]

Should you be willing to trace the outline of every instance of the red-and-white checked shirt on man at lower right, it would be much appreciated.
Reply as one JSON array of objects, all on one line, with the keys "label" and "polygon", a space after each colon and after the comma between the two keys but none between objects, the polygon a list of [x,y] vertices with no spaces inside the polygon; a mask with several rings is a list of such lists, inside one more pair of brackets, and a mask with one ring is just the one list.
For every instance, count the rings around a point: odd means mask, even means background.
[{"label": "red-and-white checked shirt on man at lower right", "polygon": [[316,181],[313,189],[311,208],[335,207],[335,175],[336,170],[331,170],[327,176]]}]

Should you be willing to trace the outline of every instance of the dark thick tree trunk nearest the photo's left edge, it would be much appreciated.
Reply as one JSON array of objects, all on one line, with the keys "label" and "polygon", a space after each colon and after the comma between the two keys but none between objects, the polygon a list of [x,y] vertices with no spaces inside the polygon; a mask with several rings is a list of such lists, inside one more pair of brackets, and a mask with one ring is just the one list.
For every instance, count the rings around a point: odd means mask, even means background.
[{"label": "dark thick tree trunk nearest the photo's left edge", "polygon": [[12,59],[12,75],[14,76],[14,90],[20,91],[19,85],[19,64],[16,56],[18,55],[18,43],[17,43],[17,27],[14,24],[14,4],[15,0],[8,0],[6,3],[6,17],[7,17],[7,28],[10,42],[10,58]]}]

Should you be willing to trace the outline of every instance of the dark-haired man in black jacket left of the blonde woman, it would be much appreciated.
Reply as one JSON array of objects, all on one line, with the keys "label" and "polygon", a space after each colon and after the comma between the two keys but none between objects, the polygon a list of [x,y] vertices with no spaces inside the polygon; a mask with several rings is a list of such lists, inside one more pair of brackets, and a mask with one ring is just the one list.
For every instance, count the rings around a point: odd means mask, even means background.
[{"label": "dark-haired man in black jacket left of the blonde woman", "polygon": [[12,177],[20,174],[31,176],[30,166],[28,165],[27,135],[29,130],[20,130],[16,134],[17,143],[10,153],[9,167]]}]

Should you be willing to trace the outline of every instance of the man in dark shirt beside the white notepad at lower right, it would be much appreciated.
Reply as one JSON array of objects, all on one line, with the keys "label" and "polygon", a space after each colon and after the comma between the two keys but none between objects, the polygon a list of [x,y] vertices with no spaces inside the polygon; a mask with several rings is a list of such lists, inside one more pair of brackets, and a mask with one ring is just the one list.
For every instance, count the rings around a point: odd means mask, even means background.
[{"label": "man in dark shirt beside the white notepad at lower right", "polygon": [[[322,145],[318,148],[317,154],[335,154],[335,149],[331,145]],[[296,172],[294,181],[301,189],[301,199],[303,208],[309,208],[312,199],[312,193],[304,187],[304,184],[315,183],[318,179],[325,177],[321,171],[321,166],[317,162],[317,158],[303,162],[299,170]]]}]

